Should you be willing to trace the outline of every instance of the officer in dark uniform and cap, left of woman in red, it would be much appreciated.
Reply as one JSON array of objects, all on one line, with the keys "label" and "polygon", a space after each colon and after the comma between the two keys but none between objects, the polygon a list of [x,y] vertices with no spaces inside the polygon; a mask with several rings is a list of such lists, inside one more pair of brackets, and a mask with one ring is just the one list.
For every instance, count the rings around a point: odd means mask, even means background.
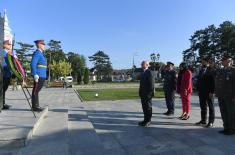
[{"label": "officer in dark uniform and cap, left of woman in red", "polygon": [[164,115],[174,115],[175,111],[175,91],[176,91],[176,72],[173,70],[174,64],[167,62],[166,71],[164,75],[164,93],[167,106],[167,112]]}]

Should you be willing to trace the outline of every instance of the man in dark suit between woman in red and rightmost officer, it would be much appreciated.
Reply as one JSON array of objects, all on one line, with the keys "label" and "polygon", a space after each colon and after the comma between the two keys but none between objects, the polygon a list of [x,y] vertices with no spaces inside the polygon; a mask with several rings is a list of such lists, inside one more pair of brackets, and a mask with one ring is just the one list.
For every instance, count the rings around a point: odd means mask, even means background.
[{"label": "man in dark suit between woman in red and rightmost officer", "polygon": [[[213,127],[215,119],[214,111],[214,91],[215,91],[215,77],[214,71],[209,66],[209,59],[202,58],[201,60],[202,68],[199,71],[197,90],[199,93],[199,102],[201,108],[201,120],[196,123],[196,125]],[[209,121],[207,120],[207,105],[209,107]]]}]

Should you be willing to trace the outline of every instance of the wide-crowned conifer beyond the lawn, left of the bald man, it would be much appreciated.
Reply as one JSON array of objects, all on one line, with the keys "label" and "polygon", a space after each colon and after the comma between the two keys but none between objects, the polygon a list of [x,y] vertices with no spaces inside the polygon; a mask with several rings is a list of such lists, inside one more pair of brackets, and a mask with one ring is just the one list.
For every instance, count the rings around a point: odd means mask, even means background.
[{"label": "wide-crowned conifer beyond the lawn, left of the bald man", "polygon": [[110,58],[103,51],[97,51],[94,55],[88,57],[89,61],[93,62],[94,69],[97,73],[97,79],[102,80],[102,77],[110,78],[113,71]]}]

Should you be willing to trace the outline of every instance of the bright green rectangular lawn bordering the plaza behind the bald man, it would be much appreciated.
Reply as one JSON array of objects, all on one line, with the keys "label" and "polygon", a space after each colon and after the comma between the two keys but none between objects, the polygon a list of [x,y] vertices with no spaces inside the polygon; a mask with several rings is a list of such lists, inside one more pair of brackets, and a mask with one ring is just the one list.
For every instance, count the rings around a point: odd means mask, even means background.
[{"label": "bright green rectangular lawn bordering the plaza behind the bald man", "polygon": [[[78,90],[84,101],[101,101],[101,100],[124,100],[138,99],[139,89],[137,88],[119,88],[119,89],[80,89]],[[98,97],[95,94],[98,93]],[[155,92],[156,98],[163,98],[164,92],[162,89],[157,89]]]}]

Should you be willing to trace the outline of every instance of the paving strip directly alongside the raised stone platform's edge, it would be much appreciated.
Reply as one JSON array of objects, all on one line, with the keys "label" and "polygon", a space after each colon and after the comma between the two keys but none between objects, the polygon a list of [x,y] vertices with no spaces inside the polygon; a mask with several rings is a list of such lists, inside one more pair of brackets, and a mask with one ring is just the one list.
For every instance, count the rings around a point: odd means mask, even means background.
[{"label": "paving strip directly alongside the raised stone platform's edge", "polygon": [[48,117],[33,135],[29,145],[17,155],[67,155],[68,154],[68,108],[52,108]]}]

